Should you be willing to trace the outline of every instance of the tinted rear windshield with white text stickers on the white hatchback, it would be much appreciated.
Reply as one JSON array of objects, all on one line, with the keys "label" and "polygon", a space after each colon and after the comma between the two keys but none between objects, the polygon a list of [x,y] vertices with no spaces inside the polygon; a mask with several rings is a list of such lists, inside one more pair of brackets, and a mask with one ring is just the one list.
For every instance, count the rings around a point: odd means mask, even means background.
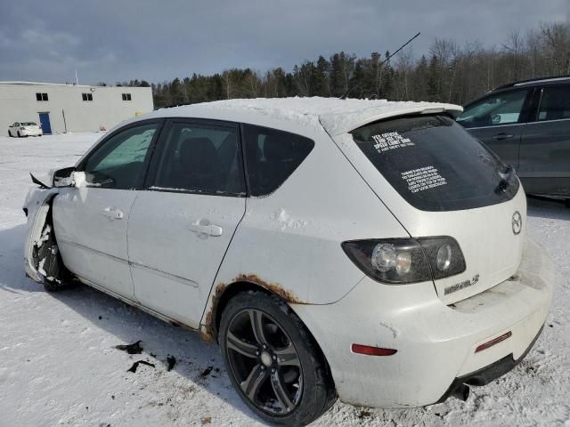
[{"label": "tinted rear windshield with white text stickers on the white hatchback", "polygon": [[512,167],[450,117],[400,117],[351,133],[379,173],[418,209],[472,209],[517,194]]}]

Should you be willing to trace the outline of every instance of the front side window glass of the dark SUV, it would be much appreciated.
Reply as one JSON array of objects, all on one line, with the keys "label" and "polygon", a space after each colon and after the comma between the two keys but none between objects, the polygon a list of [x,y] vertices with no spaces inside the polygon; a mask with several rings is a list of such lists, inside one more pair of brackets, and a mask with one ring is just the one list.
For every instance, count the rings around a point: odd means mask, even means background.
[{"label": "front side window glass of the dark SUV", "polygon": [[486,98],[465,109],[457,121],[467,128],[518,123],[527,94],[520,90]]}]

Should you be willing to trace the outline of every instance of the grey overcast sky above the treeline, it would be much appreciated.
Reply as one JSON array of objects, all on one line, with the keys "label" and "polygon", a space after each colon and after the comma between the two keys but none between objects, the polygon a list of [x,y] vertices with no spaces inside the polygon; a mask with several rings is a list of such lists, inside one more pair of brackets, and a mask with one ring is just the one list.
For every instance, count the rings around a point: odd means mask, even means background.
[{"label": "grey overcast sky above the treeline", "polygon": [[344,50],[394,51],[416,32],[500,46],[509,31],[570,20],[570,0],[0,0],[0,80],[85,85],[287,70]]}]

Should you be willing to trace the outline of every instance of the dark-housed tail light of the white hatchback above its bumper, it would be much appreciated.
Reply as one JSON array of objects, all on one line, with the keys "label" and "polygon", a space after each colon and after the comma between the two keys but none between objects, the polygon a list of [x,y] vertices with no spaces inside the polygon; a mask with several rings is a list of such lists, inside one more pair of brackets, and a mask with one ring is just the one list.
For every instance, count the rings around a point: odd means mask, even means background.
[{"label": "dark-housed tail light of the white hatchback above its bumper", "polygon": [[381,283],[399,285],[447,278],[466,269],[454,238],[387,238],[342,243],[345,254]]}]

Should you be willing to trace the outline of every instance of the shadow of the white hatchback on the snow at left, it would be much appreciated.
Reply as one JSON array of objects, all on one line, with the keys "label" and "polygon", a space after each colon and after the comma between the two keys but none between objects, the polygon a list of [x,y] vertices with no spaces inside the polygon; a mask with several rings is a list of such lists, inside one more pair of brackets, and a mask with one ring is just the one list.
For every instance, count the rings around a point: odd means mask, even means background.
[{"label": "shadow of the white hatchback on the snow at left", "polygon": [[[42,285],[26,278],[24,273],[23,241],[26,230],[25,224],[0,230],[0,294],[2,290],[12,294],[45,292]],[[149,384],[148,387],[157,391],[162,400],[141,402],[143,406],[163,406],[173,411],[176,408],[168,407],[169,402],[180,401],[181,396],[192,399],[194,391],[202,389],[223,399],[252,422],[255,420],[261,423],[233,390],[217,344],[203,342],[195,332],[171,326],[90,286],[77,285],[50,295],[76,311],[96,328],[102,328],[115,336],[116,344],[142,341],[142,354],[134,354],[126,362],[121,362],[122,357],[117,358],[117,363],[125,363],[117,368],[119,371],[126,371],[138,360],[155,365],[153,371],[161,374],[159,381],[164,382],[164,388],[161,388],[160,383]],[[37,310],[41,308],[38,307]],[[117,351],[121,353],[121,350]],[[175,366],[167,372],[167,358],[172,356],[176,360]],[[151,367],[139,367],[133,375],[147,375],[148,371],[145,369]],[[177,382],[174,376],[170,381],[162,379],[162,375],[176,374],[186,381]],[[148,375],[148,379],[151,378],[156,376]],[[188,406],[191,407],[190,400]]]}]

